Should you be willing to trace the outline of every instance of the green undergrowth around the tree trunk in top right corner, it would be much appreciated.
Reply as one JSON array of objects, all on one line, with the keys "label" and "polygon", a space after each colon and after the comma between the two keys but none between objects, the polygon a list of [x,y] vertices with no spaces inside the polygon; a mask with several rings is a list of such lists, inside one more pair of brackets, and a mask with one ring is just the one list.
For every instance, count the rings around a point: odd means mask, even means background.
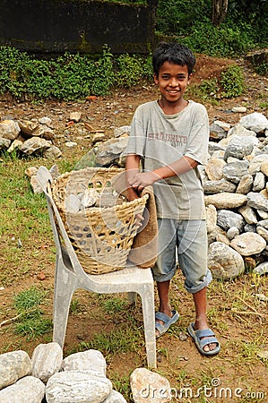
[{"label": "green undergrowth around the tree trunk in top right corner", "polygon": [[[211,0],[164,0],[157,9],[157,30],[171,35],[195,52],[209,56],[238,56],[266,47],[268,2],[229,0],[226,20],[212,25]],[[262,35],[260,35],[262,32]]]}]

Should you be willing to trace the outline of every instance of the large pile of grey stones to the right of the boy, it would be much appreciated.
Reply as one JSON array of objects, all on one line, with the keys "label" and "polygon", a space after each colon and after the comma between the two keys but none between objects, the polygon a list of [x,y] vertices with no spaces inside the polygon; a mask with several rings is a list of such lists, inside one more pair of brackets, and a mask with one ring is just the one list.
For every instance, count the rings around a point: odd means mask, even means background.
[{"label": "large pile of grey stones to the right of the boy", "polygon": [[210,158],[202,167],[209,268],[232,279],[246,268],[268,272],[268,120],[260,113],[238,124],[215,121]]}]

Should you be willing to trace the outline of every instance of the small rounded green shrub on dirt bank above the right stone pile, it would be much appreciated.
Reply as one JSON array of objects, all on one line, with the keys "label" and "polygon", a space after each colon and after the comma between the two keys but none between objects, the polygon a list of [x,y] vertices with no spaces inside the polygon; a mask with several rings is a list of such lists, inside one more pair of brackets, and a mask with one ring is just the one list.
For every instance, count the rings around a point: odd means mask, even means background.
[{"label": "small rounded green shrub on dirt bank above the right stone pile", "polygon": [[235,98],[245,90],[244,75],[238,65],[229,67],[220,74],[221,97]]}]

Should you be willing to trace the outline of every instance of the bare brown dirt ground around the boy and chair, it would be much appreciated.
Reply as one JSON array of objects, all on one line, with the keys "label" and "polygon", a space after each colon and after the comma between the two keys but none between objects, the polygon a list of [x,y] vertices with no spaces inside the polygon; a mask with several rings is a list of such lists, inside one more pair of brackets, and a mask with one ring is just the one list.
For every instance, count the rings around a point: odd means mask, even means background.
[{"label": "bare brown dirt ground around the boy and chair", "polygon": [[[246,106],[246,114],[261,112],[268,116],[268,79],[258,76],[243,60],[217,59],[209,56],[198,56],[196,73],[193,84],[200,83],[212,77],[219,77],[220,71],[227,64],[238,63],[243,67],[246,77],[246,93],[238,99],[221,99],[217,103],[207,102],[210,122],[222,120],[229,124],[236,124],[244,114],[231,112],[234,106]],[[52,119],[56,133],[55,144],[63,151],[62,159],[73,161],[81,158],[92,147],[92,136],[100,131],[108,139],[113,136],[114,129],[121,125],[130,124],[135,108],[145,101],[158,98],[158,91],[151,84],[134,90],[117,90],[108,97],[99,97],[94,101],[83,100],[81,102],[55,102],[50,101],[41,105],[32,103],[13,103],[2,99],[0,102],[0,116],[12,116],[13,118],[39,118],[48,116]],[[266,102],[266,109],[260,107],[261,101]],[[70,124],[71,112],[81,111],[82,120],[78,124]],[[85,130],[85,124],[91,126],[91,130]],[[68,149],[66,141],[75,141],[77,146]],[[45,165],[46,161],[42,161]],[[33,164],[34,165],[34,164]],[[42,255],[52,248],[53,240],[44,240]],[[43,254],[42,254],[43,253]],[[4,262],[4,259],[1,260]],[[0,261],[0,262],[1,262]],[[48,290],[51,296],[47,306],[48,313],[52,312],[52,296],[54,281],[54,263],[42,265],[45,279],[41,286]],[[1,289],[0,322],[13,316],[10,310],[13,295],[20,290],[40,284],[39,262],[34,263],[27,275],[16,279],[10,287]],[[212,385],[214,395],[203,393],[201,397],[192,399],[174,399],[176,401],[200,401],[200,402],[235,402],[235,401],[268,401],[267,360],[257,356],[259,349],[267,350],[267,303],[256,300],[257,293],[268,296],[267,279],[255,279],[245,274],[239,279],[215,283],[209,290],[208,311],[209,320],[222,345],[219,356],[206,358],[200,356],[190,338],[182,341],[179,332],[186,332],[186,327],[193,320],[193,303],[190,296],[183,288],[183,279],[178,272],[172,283],[171,299],[181,315],[181,319],[174,330],[157,341],[158,370],[169,379],[171,387],[193,388]],[[114,332],[118,327],[124,328],[128,321],[128,314],[133,314],[136,325],[142,329],[143,315],[140,301],[136,307],[132,307],[126,313],[110,315],[101,310],[97,304],[96,296],[89,296],[85,292],[77,292],[73,298],[79,298],[80,310],[70,314],[66,338],[65,355],[69,354],[81,342],[89,341],[100,330]],[[158,299],[156,296],[156,306]],[[129,323],[129,326],[131,323]],[[1,330],[1,329],[0,329]],[[143,335],[143,329],[141,330]],[[0,339],[0,352],[10,351],[13,348],[26,349],[29,354],[40,342],[46,342],[49,337],[42,337],[27,341],[13,335],[3,326]],[[146,365],[145,352],[133,352],[131,354],[118,353],[108,355],[108,375],[122,384],[122,379],[127,378],[137,366]],[[218,382],[218,384],[217,384]],[[220,396],[215,392],[217,387],[231,388],[232,396]],[[218,389],[219,389],[218,388]],[[241,396],[235,396],[235,390],[241,388]],[[216,390],[217,391],[217,390]],[[246,392],[249,394],[246,395]],[[259,394],[257,394],[259,392]],[[265,392],[266,395],[260,393]]]}]

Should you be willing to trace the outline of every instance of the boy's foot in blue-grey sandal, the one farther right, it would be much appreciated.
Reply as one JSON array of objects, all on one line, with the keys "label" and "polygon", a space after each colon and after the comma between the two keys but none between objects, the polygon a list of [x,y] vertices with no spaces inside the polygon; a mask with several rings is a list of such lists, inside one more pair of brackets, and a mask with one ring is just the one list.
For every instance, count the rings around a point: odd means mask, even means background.
[{"label": "boy's foot in blue-grey sandal, the one farther right", "polygon": [[215,356],[220,351],[220,342],[211,329],[195,330],[195,323],[190,323],[189,335],[194,339],[195,346],[203,356]]}]

